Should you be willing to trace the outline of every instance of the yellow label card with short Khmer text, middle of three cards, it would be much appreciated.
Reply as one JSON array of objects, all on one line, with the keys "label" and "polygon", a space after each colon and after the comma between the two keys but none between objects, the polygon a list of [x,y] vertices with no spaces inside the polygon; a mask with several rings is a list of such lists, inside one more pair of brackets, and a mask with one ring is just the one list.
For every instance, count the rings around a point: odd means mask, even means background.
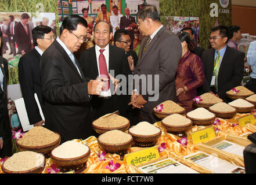
[{"label": "yellow label card with short Khmer text, middle of three cards", "polygon": [[190,135],[194,145],[207,142],[216,136],[213,127],[200,129],[200,131],[192,132]]}]

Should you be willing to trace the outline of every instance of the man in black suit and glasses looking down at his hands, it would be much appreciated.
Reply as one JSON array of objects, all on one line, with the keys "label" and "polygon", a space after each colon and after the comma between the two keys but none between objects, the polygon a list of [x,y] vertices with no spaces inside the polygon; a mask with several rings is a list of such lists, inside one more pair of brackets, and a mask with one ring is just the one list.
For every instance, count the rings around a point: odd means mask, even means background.
[{"label": "man in black suit and glasses looking down at his hands", "polygon": [[86,41],[87,22],[78,15],[64,18],[60,36],[41,58],[45,127],[58,132],[61,143],[92,135],[91,95],[102,92],[104,83],[85,79],[74,57]]}]

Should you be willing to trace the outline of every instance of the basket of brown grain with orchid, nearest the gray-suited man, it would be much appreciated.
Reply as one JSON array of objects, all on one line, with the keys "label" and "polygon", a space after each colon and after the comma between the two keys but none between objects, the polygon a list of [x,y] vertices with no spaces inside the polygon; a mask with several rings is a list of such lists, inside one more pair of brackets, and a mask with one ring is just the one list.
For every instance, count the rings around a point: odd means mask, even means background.
[{"label": "basket of brown grain with orchid, nearest the gray-suited man", "polygon": [[164,119],[165,117],[171,114],[186,114],[186,109],[179,106],[177,103],[171,100],[167,100],[155,108],[153,108],[153,113],[160,119]]}]

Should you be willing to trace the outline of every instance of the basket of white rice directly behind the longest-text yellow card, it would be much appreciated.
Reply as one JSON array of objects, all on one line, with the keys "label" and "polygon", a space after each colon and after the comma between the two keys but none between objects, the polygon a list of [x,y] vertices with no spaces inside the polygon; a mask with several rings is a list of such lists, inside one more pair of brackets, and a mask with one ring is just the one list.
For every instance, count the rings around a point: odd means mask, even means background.
[{"label": "basket of white rice directly behind the longest-text yellow card", "polygon": [[129,128],[128,133],[134,139],[135,146],[150,147],[156,145],[161,136],[161,129],[146,121]]}]

